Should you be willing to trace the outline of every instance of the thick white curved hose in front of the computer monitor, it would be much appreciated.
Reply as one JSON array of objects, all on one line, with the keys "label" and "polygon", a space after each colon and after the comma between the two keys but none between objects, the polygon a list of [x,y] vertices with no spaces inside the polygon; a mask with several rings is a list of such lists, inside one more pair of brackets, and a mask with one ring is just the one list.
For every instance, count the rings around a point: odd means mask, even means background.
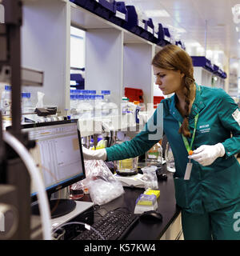
[{"label": "thick white curved hose in front of the computer monitor", "polygon": [[9,144],[22,158],[27,170],[30,173],[30,177],[37,186],[37,196],[39,201],[39,210],[42,218],[42,229],[43,238],[45,240],[51,240],[51,223],[50,223],[50,206],[46,197],[45,186],[42,182],[42,178],[39,174],[38,168],[36,167],[33,158],[31,157],[26,147],[22,145],[12,134],[5,131],[3,133],[4,141]]}]

